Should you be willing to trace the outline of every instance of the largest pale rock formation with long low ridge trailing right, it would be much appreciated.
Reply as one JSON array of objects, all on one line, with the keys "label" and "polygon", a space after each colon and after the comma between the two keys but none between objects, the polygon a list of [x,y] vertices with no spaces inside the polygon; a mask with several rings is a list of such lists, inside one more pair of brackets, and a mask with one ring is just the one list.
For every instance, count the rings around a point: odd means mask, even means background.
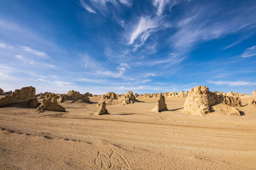
[{"label": "largest pale rock formation with long low ridge trailing right", "polygon": [[210,113],[210,106],[216,103],[224,103],[229,106],[242,106],[239,97],[216,94],[209,91],[206,86],[196,86],[192,88],[184,103],[184,110],[194,115],[203,116]]}]

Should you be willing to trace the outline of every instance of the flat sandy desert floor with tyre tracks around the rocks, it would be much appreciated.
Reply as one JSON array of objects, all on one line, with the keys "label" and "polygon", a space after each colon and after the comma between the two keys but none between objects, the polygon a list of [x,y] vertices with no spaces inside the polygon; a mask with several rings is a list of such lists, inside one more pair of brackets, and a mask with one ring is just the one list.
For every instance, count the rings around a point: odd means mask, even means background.
[{"label": "flat sandy desert floor with tyre tracks around the rocks", "polygon": [[[255,170],[256,107],[243,116],[183,111],[185,98],[165,98],[168,111],[154,113],[157,98],[107,106],[61,103],[67,112],[0,108],[1,170]],[[247,104],[256,96],[243,96]],[[42,100],[39,100],[41,102]]]}]

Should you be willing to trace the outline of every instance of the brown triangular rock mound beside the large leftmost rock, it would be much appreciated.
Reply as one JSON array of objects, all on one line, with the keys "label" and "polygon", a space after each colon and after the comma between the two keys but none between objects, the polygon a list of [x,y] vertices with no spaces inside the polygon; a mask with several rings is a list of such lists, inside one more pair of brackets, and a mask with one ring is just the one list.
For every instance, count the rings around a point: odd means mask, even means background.
[{"label": "brown triangular rock mound beside the large leftmost rock", "polygon": [[58,104],[57,95],[55,93],[47,93],[43,102],[37,107],[37,112],[45,110],[51,111],[65,111],[64,107]]}]

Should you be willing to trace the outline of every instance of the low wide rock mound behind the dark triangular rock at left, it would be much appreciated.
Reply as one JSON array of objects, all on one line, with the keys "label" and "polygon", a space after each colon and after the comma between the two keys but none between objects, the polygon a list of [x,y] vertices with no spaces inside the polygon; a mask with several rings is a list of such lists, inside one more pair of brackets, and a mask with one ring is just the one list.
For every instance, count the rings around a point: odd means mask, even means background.
[{"label": "low wide rock mound behind the dark triangular rock at left", "polygon": [[79,92],[75,92],[73,90],[69,91],[67,94],[61,94],[58,102],[62,103],[65,101],[76,101],[81,99],[83,102],[91,103],[90,98],[86,94],[80,94]]}]

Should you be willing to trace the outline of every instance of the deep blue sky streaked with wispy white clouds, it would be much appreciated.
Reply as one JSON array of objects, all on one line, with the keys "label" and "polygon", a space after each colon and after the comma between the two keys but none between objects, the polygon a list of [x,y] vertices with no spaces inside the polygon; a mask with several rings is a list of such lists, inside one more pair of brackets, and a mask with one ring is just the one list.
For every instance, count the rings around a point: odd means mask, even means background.
[{"label": "deep blue sky streaked with wispy white clouds", "polygon": [[0,88],[256,91],[255,0],[1,0]]}]

